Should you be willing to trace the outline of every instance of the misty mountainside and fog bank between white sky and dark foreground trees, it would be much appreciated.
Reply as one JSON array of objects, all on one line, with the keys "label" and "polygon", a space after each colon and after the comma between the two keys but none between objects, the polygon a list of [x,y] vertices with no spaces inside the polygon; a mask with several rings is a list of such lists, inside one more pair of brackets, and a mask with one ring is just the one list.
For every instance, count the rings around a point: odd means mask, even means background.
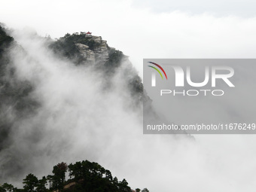
[{"label": "misty mountainside and fog bank between white sky and dark foreground trees", "polygon": [[29,173],[89,160],[132,188],[252,191],[252,136],[143,135],[142,102],[151,100],[129,57],[108,44],[1,27],[0,184],[22,187]]}]

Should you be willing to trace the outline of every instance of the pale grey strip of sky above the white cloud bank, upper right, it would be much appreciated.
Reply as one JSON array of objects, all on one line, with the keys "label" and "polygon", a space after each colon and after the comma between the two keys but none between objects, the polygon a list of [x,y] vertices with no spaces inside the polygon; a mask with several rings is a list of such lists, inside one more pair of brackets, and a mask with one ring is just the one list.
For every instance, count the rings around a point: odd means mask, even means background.
[{"label": "pale grey strip of sky above the white cloud bank, upper right", "polygon": [[150,8],[151,11],[157,13],[171,11],[185,11],[190,14],[210,13],[215,16],[239,16],[239,17],[254,17],[256,3],[251,0],[148,0],[148,1],[133,1],[133,5],[139,8]]}]

